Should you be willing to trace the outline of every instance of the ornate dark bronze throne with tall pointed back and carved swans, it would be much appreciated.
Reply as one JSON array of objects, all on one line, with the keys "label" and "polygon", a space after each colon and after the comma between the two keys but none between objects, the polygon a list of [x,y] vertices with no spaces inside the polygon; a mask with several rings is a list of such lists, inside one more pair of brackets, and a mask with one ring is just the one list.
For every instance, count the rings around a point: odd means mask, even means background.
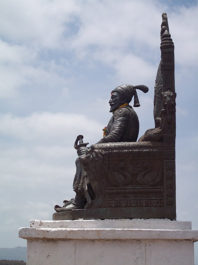
[{"label": "ornate dark bronze throne with tall pointed back and carved swans", "polygon": [[[138,142],[91,146],[82,161],[87,205],[72,218],[176,218],[174,44],[162,14],[155,128]],[[88,192],[92,187],[92,194]]]}]

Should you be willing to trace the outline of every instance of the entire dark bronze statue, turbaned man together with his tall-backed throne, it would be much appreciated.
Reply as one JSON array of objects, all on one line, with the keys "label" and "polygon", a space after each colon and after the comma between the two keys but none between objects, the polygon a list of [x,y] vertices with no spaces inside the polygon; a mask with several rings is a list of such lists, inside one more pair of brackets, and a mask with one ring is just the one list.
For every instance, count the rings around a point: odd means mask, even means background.
[{"label": "entire dark bronze statue, turbaned man together with his tall-backed throne", "polygon": [[[140,106],[136,90],[146,93],[146,86],[122,85],[111,92],[113,115],[103,138],[87,148],[79,135],[74,144],[79,155],[76,196],[63,207],[55,206],[57,212],[71,213],[68,218],[176,218],[174,44],[166,13],[162,18],[155,128],[137,141],[139,121],[129,103],[134,97],[134,107]],[[54,213],[53,218],[62,220],[61,214]]]}]

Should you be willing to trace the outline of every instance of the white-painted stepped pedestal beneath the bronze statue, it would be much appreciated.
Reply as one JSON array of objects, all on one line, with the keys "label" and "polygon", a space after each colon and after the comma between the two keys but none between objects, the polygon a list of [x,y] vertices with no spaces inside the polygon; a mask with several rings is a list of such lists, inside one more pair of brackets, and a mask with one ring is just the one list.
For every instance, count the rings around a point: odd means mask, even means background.
[{"label": "white-painted stepped pedestal beneath the bronze statue", "polygon": [[31,221],[27,265],[194,265],[198,231],[164,219]]}]

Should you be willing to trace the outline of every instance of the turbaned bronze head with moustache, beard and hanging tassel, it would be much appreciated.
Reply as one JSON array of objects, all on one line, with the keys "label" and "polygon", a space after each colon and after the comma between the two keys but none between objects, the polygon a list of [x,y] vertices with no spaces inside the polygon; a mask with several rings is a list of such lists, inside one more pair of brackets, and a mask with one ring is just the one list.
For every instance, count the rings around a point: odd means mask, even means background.
[{"label": "turbaned bronze head with moustache, beard and hanging tassel", "polygon": [[123,104],[129,104],[134,96],[134,107],[139,107],[139,100],[137,97],[136,89],[142,90],[144,93],[148,92],[148,87],[144,85],[132,86],[132,85],[122,85],[116,87],[111,91],[111,98],[109,100],[110,111],[114,112]]}]

